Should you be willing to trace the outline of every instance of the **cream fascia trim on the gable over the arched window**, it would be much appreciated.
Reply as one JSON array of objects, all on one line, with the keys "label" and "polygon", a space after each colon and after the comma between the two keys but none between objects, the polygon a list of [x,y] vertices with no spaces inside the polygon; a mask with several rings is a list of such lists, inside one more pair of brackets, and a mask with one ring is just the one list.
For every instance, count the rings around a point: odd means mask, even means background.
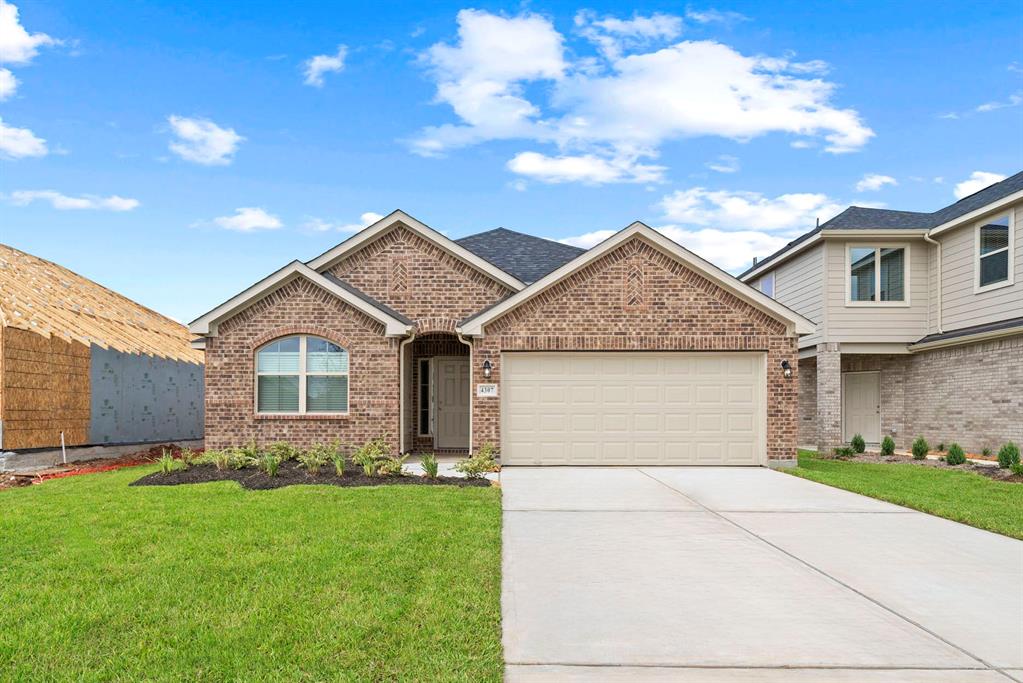
[{"label": "cream fascia trim on the gable over the arched window", "polygon": [[362,313],[365,313],[373,320],[383,323],[386,327],[385,333],[388,336],[404,336],[410,329],[410,326],[407,323],[398,320],[388,312],[376,308],[369,302],[356,297],[344,287],[339,287],[337,284],[326,279],[301,261],[293,261],[280,270],[263,278],[236,297],[227,300],[206,315],[193,320],[188,325],[188,331],[192,334],[201,334],[203,336],[216,336],[218,322],[252,306],[267,294],[272,293],[298,277],[305,277],[316,286],[326,289],[330,293],[338,297],[338,299],[343,300],[352,308],[357,309]]}]

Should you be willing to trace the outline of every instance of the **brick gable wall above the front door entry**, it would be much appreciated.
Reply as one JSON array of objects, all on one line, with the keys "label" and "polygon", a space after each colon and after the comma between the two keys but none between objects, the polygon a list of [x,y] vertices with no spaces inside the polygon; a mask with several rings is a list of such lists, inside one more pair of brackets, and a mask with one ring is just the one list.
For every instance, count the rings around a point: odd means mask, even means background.
[{"label": "brick gable wall above the front door entry", "polygon": [[[347,255],[327,272],[416,321],[462,320],[511,293],[401,225]],[[453,330],[452,325],[443,331]]]}]

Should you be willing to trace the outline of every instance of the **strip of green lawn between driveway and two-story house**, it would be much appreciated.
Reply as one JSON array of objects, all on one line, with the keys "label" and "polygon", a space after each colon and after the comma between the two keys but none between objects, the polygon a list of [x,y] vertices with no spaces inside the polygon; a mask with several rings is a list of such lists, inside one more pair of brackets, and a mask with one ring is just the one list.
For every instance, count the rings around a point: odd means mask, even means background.
[{"label": "strip of green lawn between driveway and two-story house", "polygon": [[1023,485],[909,463],[847,462],[799,452],[784,471],[864,496],[1023,539]]}]

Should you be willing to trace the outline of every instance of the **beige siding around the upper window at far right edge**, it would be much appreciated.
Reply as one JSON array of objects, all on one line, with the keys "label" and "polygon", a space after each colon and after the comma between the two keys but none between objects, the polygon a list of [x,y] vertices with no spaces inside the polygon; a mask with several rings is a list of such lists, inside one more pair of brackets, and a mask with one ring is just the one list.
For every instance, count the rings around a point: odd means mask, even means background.
[{"label": "beige siding around the upper window at far right edge", "polygon": [[1023,203],[1016,204],[1015,213],[1015,282],[1011,286],[974,292],[977,222],[938,235],[942,249],[941,324],[945,331],[1023,316]]}]

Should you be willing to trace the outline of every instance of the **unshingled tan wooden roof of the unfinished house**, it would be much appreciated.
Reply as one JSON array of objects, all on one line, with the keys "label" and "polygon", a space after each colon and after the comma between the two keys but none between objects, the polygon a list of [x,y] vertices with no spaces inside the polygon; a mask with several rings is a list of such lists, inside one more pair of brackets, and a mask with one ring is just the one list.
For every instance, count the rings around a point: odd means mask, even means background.
[{"label": "unshingled tan wooden roof of the unfinished house", "polygon": [[181,323],[6,244],[0,244],[0,325],[129,354],[203,362]]}]

